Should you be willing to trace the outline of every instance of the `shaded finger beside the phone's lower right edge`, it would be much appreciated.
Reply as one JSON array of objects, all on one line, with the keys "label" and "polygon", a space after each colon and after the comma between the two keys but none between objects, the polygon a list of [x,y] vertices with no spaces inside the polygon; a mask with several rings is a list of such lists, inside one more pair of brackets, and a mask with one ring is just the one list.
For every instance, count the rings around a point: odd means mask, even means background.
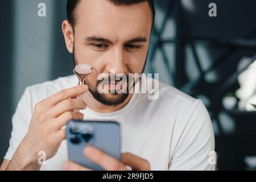
[{"label": "shaded finger beside the phone's lower right edge", "polygon": [[150,163],[146,159],[140,158],[137,155],[125,152],[122,154],[122,163],[130,166],[135,171],[149,171]]}]

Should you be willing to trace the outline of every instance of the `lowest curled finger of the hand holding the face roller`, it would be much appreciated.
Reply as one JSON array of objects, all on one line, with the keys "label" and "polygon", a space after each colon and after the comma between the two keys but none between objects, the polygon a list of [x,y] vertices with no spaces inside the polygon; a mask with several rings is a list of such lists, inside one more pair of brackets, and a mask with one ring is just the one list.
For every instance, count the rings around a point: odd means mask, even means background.
[{"label": "lowest curled finger of the hand holding the face roller", "polygon": [[57,117],[53,123],[52,123],[52,128],[54,130],[60,130],[63,126],[67,125],[67,123],[71,120],[82,120],[84,119],[84,114],[82,113],[73,113],[71,111],[67,111],[59,117]]}]

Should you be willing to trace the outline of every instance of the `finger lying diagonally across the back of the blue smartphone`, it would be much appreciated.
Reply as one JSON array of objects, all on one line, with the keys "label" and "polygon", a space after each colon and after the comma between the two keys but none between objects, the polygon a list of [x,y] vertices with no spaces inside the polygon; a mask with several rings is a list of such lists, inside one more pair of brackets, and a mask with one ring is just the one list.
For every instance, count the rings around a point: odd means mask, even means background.
[{"label": "finger lying diagonally across the back of the blue smartphone", "polygon": [[115,159],[113,156],[105,154],[101,150],[98,150],[95,147],[88,146],[85,147],[84,155],[91,160],[92,162],[100,165],[109,171],[119,171],[119,170],[127,170],[126,167],[119,162],[119,160]]}]

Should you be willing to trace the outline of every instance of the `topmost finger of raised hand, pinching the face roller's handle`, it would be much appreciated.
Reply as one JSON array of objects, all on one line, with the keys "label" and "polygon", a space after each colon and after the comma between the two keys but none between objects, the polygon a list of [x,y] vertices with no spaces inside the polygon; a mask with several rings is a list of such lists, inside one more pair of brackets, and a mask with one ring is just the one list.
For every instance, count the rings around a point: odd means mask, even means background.
[{"label": "topmost finger of raised hand, pinching the face roller's handle", "polygon": [[71,97],[79,96],[88,91],[87,85],[74,86],[69,89],[61,90],[60,92],[53,94],[52,96],[41,101],[42,107],[51,107],[59,103],[60,101],[66,100]]}]

